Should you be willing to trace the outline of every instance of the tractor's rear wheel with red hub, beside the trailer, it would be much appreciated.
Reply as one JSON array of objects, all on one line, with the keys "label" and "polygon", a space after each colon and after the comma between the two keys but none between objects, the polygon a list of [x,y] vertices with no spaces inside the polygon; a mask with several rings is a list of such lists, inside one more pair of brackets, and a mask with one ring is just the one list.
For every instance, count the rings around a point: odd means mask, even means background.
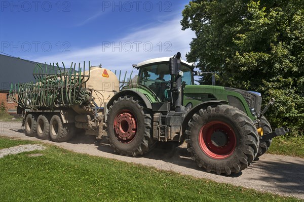
[{"label": "tractor's rear wheel with red hub, beside the trailer", "polygon": [[151,148],[150,111],[136,97],[115,100],[107,116],[108,140],[116,152],[136,156]]}]

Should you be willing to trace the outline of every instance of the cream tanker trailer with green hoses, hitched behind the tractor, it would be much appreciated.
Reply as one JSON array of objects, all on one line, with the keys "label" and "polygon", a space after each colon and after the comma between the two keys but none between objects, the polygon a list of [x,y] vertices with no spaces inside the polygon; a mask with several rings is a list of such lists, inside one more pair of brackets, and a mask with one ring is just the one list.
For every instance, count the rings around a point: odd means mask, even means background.
[{"label": "cream tanker trailer with green hoses, hitched behind the tractor", "polygon": [[28,136],[63,142],[83,131],[103,137],[104,106],[119,91],[119,79],[90,62],[85,68],[85,62],[72,63],[70,68],[36,64],[34,82],[11,85],[10,97],[18,103]]}]

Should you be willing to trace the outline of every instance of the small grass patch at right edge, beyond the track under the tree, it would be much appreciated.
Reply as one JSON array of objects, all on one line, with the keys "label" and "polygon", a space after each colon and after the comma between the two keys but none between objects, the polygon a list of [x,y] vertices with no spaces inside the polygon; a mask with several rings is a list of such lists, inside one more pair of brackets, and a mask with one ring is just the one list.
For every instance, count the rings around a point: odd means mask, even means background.
[{"label": "small grass patch at right edge, beyond the track under the tree", "polygon": [[304,158],[304,136],[276,137],[267,152]]}]

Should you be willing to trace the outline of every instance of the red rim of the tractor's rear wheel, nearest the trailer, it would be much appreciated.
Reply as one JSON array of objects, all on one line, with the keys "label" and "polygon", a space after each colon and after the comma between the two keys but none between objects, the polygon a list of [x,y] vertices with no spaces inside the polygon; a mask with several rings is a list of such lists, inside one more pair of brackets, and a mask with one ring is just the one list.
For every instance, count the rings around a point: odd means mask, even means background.
[{"label": "red rim of the tractor's rear wheel, nearest the trailer", "polygon": [[136,134],[136,118],[130,110],[120,111],[114,118],[114,133],[123,143],[130,143]]}]

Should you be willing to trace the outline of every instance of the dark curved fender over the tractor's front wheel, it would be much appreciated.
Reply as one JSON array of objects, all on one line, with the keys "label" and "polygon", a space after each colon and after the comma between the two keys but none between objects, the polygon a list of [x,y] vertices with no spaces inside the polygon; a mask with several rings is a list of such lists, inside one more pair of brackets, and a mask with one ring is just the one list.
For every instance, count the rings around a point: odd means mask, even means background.
[{"label": "dark curved fender over the tractor's front wheel", "polygon": [[187,115],[185,116],[182,125],[181,125],[181,136],[179,136],[179,142],[182,142],[185,140],[186,137],[186,128],[188,126],[188,122],[189,120],[192,118],[192,116],[198,112],[200,109],[206,109],[208,106],[214,106],[214,105],[219,105],[219,104],[228,104],[229,102],[224,101],[224,100],[210,100],[210,101],[206,101],[203,102],[197,106],[195,106],[194,108],[191,109],[191,111],[189,111],[187,113]]}]

